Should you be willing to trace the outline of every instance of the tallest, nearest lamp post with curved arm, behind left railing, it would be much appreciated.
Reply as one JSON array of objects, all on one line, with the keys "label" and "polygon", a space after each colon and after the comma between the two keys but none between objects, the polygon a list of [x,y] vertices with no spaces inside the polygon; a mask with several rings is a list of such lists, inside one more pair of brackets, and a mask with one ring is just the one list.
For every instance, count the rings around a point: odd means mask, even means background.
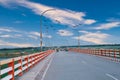
[{"label": "tallest, nearest lamp post with curved arm, behind left railing", "polygon": [[40,51],[42,51],[42,45],[43,45],[43,41],[42,41],[42,16],[48,12],[48,11],[53,11],[53,10],[56,10],[56,9],[47,9],[45,11],[43,11],[40,15]]}]

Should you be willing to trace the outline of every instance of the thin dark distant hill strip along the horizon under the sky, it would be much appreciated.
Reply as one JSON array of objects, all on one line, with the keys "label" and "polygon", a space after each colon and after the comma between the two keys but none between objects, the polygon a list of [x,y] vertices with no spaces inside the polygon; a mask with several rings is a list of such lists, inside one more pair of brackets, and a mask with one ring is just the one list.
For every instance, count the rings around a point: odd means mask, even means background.
[{"label": "thin dark distant hill strip along the horizon under the sky", "polygon": [[[43,51],[48,48],[104,48],[104,49],[120,49],[120,44],[102,44],[102,45],[73,45],[73,46],[54,46],[54,47],[43,47]],[[0,49],[0,51],[6,51],[6,50],[17,50],[17,51],[24,51],[24,50],[40,50],[40,47],[27,47],[27,48],[3,48]]]}]

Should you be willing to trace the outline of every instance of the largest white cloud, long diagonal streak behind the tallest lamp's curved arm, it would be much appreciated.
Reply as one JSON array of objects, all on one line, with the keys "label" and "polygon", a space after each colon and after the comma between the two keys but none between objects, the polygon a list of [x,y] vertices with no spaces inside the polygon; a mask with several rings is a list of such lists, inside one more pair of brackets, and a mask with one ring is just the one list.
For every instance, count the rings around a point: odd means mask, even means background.
[{"label": "largest white cloud, long diagonal streak behind the tallest lamp's curved arm", "polygon": [[93,19],[85,19],[86,16],[83,12],[75,12],[71,10],[62,10],[46,5],[42,5],[35,2],[30,2],[28,0],[0,0],[0,3],[2,5],[13,5],[17,4],[19,6],[24,6],[26,8],[31,9],[35,14],[41,15],[42,12],[48,9],[55,9],[54,11],[49,11],[44,14],[47,18],[51,19],[53,22],[58,20],[61,24],[69,25],[69,26],[75,26],[76,24],[93,24],[96,21]]}]

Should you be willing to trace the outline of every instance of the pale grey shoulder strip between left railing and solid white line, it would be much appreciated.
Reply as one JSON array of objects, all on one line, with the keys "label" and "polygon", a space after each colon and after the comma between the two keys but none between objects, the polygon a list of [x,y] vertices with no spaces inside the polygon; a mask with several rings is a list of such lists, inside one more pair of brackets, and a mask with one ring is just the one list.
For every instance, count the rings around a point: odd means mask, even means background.
[{"label": "pale grey shoulder strip between left railing and solid white line", "polygon": [[47,65],[51,61],[52,57],[54,57],[54,54],[50,54],[47,56],[44,60],[39,62],[37,65],[35,65],[33,68],[28,70],[28,72],[24,73],[21,77],[16,77],[15,80],[36,80],[36,76],[39,75],[39,80],[41,79],[40,77],[44,73]]}]

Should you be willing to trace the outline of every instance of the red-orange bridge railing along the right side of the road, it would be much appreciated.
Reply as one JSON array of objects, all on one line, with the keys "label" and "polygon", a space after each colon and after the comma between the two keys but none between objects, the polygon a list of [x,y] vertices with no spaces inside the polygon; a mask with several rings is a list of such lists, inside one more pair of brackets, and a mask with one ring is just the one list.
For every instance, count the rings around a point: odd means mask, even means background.
[{"label": "red-orange bridge railing along the right side of the road", "polygon": [[69,51],[87,53],[92,55],[104,56],[109,59],[120,61],[120,50],[115,49],[79,49],[79,48],[70,48]]}]

